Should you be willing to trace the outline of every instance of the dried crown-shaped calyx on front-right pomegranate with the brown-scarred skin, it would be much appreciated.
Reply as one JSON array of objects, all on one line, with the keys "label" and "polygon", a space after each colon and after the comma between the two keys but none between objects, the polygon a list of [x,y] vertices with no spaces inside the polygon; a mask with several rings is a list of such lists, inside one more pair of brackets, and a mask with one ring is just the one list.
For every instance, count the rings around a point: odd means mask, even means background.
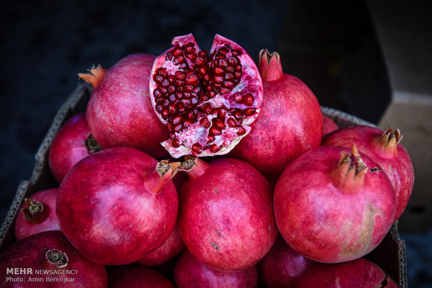
[{"label": "dried crown-shaped calyx on front-right pomegranate with the brown-scarred skin", "polygon": [[364,186],[366,173],[367,166],[353,144],[351,152],[341,152],[338,166],[332,171],[331,179],[334,186],[344,193],[357,193]]}]

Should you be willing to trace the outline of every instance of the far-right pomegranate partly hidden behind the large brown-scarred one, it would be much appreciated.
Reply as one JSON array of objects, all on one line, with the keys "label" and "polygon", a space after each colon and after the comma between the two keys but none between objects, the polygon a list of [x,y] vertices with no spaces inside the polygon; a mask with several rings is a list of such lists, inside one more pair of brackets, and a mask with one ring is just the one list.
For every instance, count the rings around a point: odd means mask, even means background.
[{"label": "far-right pomegranate partly hidden behind the large brown-scarred one", "polygon": [[396,193],[396,214],[401,217],[414,186],[414,167],[410,155],[401,144],[402,134],[392,127],[382,131],[375,127],[354,126],[334,132],[323,139],[323,145],[348,147],[354,142],[358,150],[376,161],[387,173]]}]

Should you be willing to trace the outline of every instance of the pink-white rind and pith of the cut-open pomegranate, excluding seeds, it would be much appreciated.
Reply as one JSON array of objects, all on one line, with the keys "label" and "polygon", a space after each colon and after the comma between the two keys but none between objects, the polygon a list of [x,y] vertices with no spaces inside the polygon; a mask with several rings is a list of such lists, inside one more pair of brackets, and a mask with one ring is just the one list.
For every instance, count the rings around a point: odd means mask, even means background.
[{"label": "pink-white rind and pith of the cut-open pomegranate, excluding seeds", "polygon": [[[156,74],[157,70],[159,68],[166,68],[168,72],[175,72],[176,67],[173,65],[171,61],[166,60],[167,54],[169,52],[173,51],[174,49],[178,47],[183,47],[183,45],[186,45],[188,43],[192,43],[194,47],[196,48],[196,51],[199,51],[199,47],[196,44],[196,40],[194,39],[194,36],[191,34],[177,36],[176,38],[173,38],[173,41],[171,44],[173,47],[165,51],[163,54],[158,56],[155,59],[155,62],[153,63],[153,68],[151,71],[151,79],[149,84],[150,89],[150,97],[151,97],[151,103],[153,104],[153,109],[155,110],[155,113],[157,117],[160,119],[164,125],[167,125],[167,119],[162,118],[162,115],[157,112],[156,106],[156,100],[153,96],[153,91],[157,88],[157,83],[155,79],[153,79],[153,75]],[[245,118],[242,118],[240,120],[240,125],[245,131],[242,131],[238,135],[238,127],[230,127],[228,125],[228,119],[229,117],[226,117],[224,119],[224,124],[226,126],[226,129],[222,129],[221,135],[215,136],[215,141],[211,143],[211,145],[215,144],[217,147],[219,147],[219,150],[216,152],[213,152],[210,150],[210,148],[205,148],[207,141],[208,141],[208,128],[203,127],[199,121],[196,121],[190,125],[190,127],[182,129],[180,131],[176,131],[175,138],[180,141],[181,145],[179,147],[173,146],[173,139],[168,139],[166,141],[163,141],[161,145],[171,154],[174,158],[179,158],[184,155],[194,155],[199,157],[205,157],[205,156],[215,156],[215,155],[223,155],[229,153],[233,147],[235,147],[242,138],[247,136],[250,131],[250,125],[254,120],[258,117],[259,111],[261,111],[261,104],[263,100],[263,83],[261,80],[261,75],[259,74],[259,70],[256,67],[254,61],[252,58],[247,54],[245,49],[240,47],[236,42],[233,42],[227,38],[224,38],[221,35],[216,34],[215,39],[213,40],[213,45],[210,49],[210,57],[212,57],[212,54],[215,51],[218,51],[221,47],[224,47],[225,45],[230,45],[232,49],[237,49],[241,52],[241,54],[238,56],[240,59],[240,63],[242,64],[242,76],[240,79],[240,83],[238,83],[237,86],[235,86],[229,93],[225,94],[219,94],[213,98],[210,98],[206,101],[200,102],[198,106],[196,106],[197,109],[202,107],[204,104],[210,104],[212,106],[213,111],[215,109],[220,109],[225,107],[226,110],[228,109],[247,109],[247,108],[254,108],[255,112],[252,115],[249,115]],[[192,67],[192,63],[190,59],[186,58],[187,64]],[[254,97],[254,102],[252,106],[246,106],[245,104],[238,104],[236,102],[233,102],[233,95],[236,95],[236,93],[241,92],[242,94],[251,93]],[[231,101],[229,101],[231,99]],[[216,118],[217,116],[214,115],[214,113],[210,113],[207,115],[208,120],[210,123],[212,122],[212,119]],[[202,152],[196,153],[194,150],[192,150],[192,145],[199,143],[201,147],[203,147]]]}]

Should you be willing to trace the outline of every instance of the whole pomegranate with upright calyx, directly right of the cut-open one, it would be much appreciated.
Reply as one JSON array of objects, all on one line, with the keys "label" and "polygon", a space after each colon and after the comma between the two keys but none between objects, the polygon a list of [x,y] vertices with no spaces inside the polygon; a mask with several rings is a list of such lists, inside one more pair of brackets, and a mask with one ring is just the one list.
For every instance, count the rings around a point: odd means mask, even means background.
[{"label": "whole pomegranate with upright calyx, directly right of the cut-open one", "polygon": [[323,114],[314,93],[282,72],[277,52],[260,51],[259,72],[264,87],[261,113],[230,155],[277,179],[291,161],[321,144]]}]

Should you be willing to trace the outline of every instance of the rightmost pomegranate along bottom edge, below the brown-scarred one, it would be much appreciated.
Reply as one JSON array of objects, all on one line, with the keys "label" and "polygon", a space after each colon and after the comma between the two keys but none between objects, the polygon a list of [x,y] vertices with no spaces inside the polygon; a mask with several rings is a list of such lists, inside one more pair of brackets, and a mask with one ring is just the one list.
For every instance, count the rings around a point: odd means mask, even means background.
[{"label": "rightmost pomegranate along bottom edge, below the brown-scarred one", "polygon": [[[385,285],[387,283],[387,285]],[[295,288],[396,288],[379,266],[360,258],[339,264],[316,264],[300,275]]]}]

